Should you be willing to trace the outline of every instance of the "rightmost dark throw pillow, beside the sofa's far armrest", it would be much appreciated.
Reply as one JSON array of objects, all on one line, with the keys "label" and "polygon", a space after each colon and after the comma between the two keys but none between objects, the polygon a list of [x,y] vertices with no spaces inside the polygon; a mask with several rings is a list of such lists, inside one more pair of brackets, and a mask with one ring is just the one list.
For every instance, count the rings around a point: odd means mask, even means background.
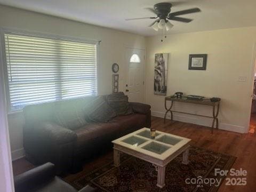
[{"label": "rightmost dark throw pillow, beside the sofa's far armrest", "polygon": [[123,92],[113,93],[107,95],[107,101],[110,107],[112,107],[117,115],[129,115],[132,114],[132,108],[129,105],[127,95]]}]

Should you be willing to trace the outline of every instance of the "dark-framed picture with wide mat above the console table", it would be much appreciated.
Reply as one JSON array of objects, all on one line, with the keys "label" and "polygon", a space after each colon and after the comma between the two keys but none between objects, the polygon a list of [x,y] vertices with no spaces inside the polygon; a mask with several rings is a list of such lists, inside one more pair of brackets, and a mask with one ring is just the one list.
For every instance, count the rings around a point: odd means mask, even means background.
[{"label": "dark-framed picture with wide mat above the console table", "polygon": [[189,70],[206,70],[207,54],[190,54],[188,61]]}]

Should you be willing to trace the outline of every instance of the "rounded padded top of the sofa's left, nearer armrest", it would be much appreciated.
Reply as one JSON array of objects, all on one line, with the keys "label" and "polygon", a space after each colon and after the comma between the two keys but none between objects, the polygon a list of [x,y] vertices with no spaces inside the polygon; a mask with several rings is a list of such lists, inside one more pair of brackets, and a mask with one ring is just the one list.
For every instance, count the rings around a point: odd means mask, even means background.
[{"label": "rounded padded top of the sofa's left, nearer armrest", "polygon": [[37,129],[41,137],[48,138],[51,142],[58,145],[73,142],[77,139],[74,131],[52,122],[39,122],[35,129]]}]

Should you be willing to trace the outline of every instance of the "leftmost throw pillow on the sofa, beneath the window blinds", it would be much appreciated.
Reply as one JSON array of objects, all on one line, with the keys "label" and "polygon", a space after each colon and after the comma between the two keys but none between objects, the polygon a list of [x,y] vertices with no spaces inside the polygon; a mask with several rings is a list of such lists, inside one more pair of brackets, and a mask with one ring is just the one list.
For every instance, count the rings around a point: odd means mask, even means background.
[{"label": "leftmost throw pillow on the sofa, beneath the window blinds", "polygon": [[85,120],[83,108],[70,101],[55,103],[54,120],[57,124],[70,130],[88,124]]}]

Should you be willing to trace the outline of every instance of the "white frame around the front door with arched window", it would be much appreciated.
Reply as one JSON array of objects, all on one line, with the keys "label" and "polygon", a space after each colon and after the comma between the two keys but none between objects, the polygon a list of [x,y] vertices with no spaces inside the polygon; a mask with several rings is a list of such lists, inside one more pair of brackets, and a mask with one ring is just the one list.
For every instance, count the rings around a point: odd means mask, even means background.
[{"label": "white frame around the front door with arched window", "polygon": [[[146,101],[146,49],[145,48],[138,48],[138,47],[132,47],[132,46],[127,46],[127,45],[124,45],[124,61],[125,61],[125,66],[124,66],[124,68],[125,68],[125,70],[126,71],[128,71],[128,68],[129,68],[129,66],[127,65],[128,63],[126,63],[126,50],[127,49],[134,49],[134,50],[140,50],[140,51],[143,51],[143,54],[144,54],[144,58],[143,58],[143,63],[142,63],[142,66],[143,66],[143,75],[142,75],[142,77],[143,77],[143,79],[142,79],[142,81],[144,82],[144,84],[143,84],[143,89],[142,89],[142,91],[143,91],[143,94],[142,94],[142,98],[143,98],[143,103],[145,103],[145,101]],[[125,81],[124,81],[124,90],[126,90],[126,82],[128,81],[128,75],[127,75],[127,73],[125,73]]]}]

